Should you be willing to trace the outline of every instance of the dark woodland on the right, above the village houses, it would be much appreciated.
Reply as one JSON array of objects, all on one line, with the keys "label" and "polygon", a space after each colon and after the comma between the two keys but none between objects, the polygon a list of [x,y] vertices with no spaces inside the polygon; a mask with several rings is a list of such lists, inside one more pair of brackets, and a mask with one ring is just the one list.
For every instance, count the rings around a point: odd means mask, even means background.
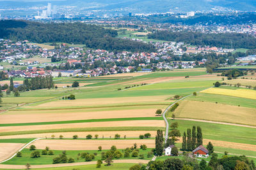
[{"label": "dark woodland on the right, above the village houses", "polygon": [[148,38],[164,41],[184,42],[190,45],[217,46],[222,48],[256,48],[256,38],[247,34],[220,33],[204,34],[201,32],[170,32],[156,31],[148,35]]}]

